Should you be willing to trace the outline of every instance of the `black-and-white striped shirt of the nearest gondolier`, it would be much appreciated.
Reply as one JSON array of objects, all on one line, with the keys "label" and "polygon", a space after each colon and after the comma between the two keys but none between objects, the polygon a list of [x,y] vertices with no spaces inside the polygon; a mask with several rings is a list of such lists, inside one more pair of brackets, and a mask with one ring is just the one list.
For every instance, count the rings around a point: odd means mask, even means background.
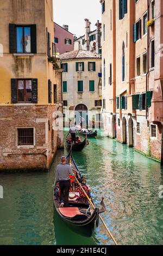
[{"label": "black-and-white striped shirt of the nearest gondolier", "polygon": [[73,170],[69,164],[59,164],[56,171],[56,181],[70,180],[70,176],[74,176]]}]

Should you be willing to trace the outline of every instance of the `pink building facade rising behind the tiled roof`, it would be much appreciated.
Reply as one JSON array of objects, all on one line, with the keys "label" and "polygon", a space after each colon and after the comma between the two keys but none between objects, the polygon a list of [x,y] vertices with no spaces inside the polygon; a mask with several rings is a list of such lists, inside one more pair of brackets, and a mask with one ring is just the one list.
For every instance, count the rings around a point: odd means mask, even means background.
[{"label": "pink building facade rising behind the tiled roof", "polygon": [[62,54],[74,50],[74,37],[73,34],[68,31],[67,25],[61,27],[54,22],[54,35],[56,53]]}]

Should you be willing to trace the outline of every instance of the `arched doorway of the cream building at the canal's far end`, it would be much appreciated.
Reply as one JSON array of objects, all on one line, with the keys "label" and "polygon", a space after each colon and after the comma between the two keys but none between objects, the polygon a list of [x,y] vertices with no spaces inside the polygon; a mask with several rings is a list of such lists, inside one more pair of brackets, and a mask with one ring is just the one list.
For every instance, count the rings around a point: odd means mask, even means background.
[{"label": "arched doorway of the cream building at the canal's far end", "polygon": [[80,117],[83,118],[82,127],[88,128],[87,106],[84,104],[78,104],[75,108],[75,120],[77,125],[80,124]]}]

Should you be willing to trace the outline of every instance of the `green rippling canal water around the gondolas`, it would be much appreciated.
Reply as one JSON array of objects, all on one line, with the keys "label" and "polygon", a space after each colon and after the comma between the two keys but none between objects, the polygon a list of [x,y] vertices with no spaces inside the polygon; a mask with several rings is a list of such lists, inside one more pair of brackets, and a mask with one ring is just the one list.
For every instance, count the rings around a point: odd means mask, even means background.
[{"label": "green rippling canal water around the gondolas", "polygon": [[[91,139],[74,160],[86,175],[97,206],[119,245],[163,244],[163,185],[160,164],[108,137]],[[112,245],[102,224],[90,239],[73,233],[53,206],[53,181],[59,150],[49,173],[1,174],[0,245]]]}]

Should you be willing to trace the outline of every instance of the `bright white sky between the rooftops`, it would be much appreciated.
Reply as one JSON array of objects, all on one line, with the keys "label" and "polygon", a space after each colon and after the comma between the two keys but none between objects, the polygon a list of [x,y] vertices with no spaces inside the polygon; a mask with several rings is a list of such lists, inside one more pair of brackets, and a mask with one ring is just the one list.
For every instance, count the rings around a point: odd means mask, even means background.
[{"label": "bright white sky between the rooftops", "polygon": [[54,21],[60,26],[68,25],[69,31],[77,37],[84,35],[84,19],[91,21],[91,31],[101,22],[99,0],[53,0]]}]

